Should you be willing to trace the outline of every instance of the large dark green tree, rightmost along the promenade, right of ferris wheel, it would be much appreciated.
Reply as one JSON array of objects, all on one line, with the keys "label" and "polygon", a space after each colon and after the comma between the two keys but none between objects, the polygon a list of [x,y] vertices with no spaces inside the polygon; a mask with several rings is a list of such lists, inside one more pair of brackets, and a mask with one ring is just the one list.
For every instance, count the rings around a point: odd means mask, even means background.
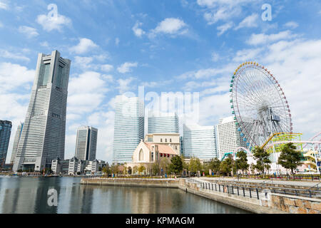
[{"label": "large dark green tree, rightmost along the promenade, right of ferris wheel", "polygon": [[294,175],[295,170],[299,165],[302,165],[302,155],[300,151],[296,150],[297,147],[292,142],[285,144],[282,147],[281,154],[277,160],[277,164],[282,165],[285,169],[291,170],[291,174]]}]

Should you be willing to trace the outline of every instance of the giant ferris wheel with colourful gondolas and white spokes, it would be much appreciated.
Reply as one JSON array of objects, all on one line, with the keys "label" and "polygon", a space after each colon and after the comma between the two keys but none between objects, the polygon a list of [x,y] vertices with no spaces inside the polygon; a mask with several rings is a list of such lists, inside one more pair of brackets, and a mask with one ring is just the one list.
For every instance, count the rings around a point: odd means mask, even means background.
[{"label": "giant ferris wheel with colourful gondolas and white spokes", "polygon": [[292,133],[285,94],[264,66],[241,64],[230,81],[230,93],[235,125],[247,147],[260,147],[273,133]]}]

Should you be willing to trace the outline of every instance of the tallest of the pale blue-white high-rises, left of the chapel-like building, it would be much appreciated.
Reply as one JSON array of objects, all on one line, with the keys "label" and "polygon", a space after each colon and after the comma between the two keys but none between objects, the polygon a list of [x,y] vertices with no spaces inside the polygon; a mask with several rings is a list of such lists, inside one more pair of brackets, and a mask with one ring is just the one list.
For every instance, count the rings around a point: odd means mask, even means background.
[{"label": "tallest of the pale blue-white high-rises, left of the chapel-like building", "polygon": [[131,162],[133,152],[143,138],[143,101],[137,97],[118,96],[115,103],[113,162]]}]

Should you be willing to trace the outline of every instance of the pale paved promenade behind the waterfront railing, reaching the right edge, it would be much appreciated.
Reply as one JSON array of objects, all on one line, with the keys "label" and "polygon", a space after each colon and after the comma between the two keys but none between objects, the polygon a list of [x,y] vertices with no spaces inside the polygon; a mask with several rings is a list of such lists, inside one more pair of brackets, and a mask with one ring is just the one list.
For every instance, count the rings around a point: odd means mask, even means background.
[{"label": "pale paved promenade behind the waterfront railing, reaching the right edge", "polygon": [[315,187],[319,183],[319,187],[321,187],[321,182],[320,181],[302,181],[302,180],[297,180],[297,181],[292,181],[292,180],[258,180],[258,179],[239,179],[236,177],[200,177],[200,178],[195,178],[200,179],[200,180],[205,180],[208,182],[213,182],[213,181],[238,181],[238,182],[252,182],[254,184],[262,184],[263,182],[265,183],[271,183],[271,184],[276,184],[276,185],[292,185],[292,186],[303,186],[303,187]]}]

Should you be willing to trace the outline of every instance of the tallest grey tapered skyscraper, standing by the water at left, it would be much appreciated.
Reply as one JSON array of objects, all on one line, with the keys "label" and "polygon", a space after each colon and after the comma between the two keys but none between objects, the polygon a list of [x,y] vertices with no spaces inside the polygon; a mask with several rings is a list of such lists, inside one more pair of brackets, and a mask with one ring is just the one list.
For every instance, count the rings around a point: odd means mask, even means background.
[{"label": "tallest grey tapered skyscraper, standing by the water at left", "polygon": [[70,65],[58,51],[39,53],[14,171],[41,171],[57,157],[63,160]]}]

